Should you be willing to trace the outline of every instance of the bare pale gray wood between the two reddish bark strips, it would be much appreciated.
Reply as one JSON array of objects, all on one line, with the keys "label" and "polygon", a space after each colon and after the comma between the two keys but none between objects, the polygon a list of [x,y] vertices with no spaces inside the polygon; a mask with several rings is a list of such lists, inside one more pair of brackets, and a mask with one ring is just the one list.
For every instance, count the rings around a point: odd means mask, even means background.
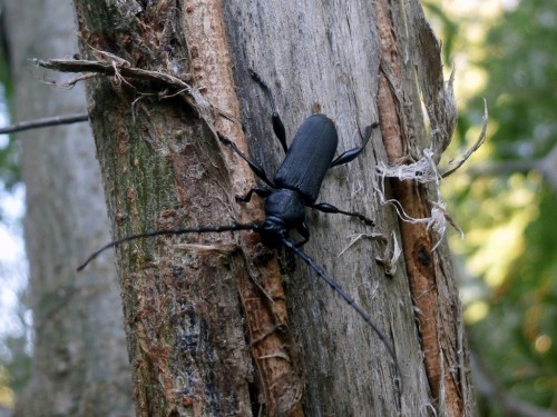
[{"label": "bare pale gray wood between the two reddish bark strips", "polygon": [[[317,102],[339,129],[338,153],[359,146],[364,128],[379,121],[375,97],[380,47],[374,4],[281,2],[261,7],[242,2],[227,3],[226,9],[236,82],[247,102],[243,116],[252,156],[264,162],[268,172],[282,158],[270,129],[268,103],[247,77],[250,67],[275,90],[289,141]],[[251,16],[257,18],[251,20]],[[294,339],[302,349],[307,415],[428,414],[431,399],[403,265],[399,264],[390,278],[374,260],[383,256],[384,242],[362,238],[350,246],[352,236],[374,232],[387,237],[392,247],[397,218],[392,211],[378,208],[374,193],[375,161],[382,148],[380,129],[375,129],[368,149],[356,160],[329,172],[319,198],[343,210],[360,211],[375,219],[377,226],[369,228],[344,216],[307,210],[312,237],[304,251],[370,312],[392,340],[403,389],[391,358],[367,324],[297,261],[289,280],[287,299]]]}]

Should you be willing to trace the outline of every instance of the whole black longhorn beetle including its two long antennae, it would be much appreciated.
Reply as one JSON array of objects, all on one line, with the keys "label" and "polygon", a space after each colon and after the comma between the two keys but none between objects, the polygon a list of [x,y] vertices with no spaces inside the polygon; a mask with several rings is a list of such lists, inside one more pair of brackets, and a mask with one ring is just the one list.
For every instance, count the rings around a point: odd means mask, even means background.
[{"label": "whole black longhorn beetle including its two long antennae", "polygon": [[[365,129],[363,145],[350,149],[336,159],[338,135],[336,128],[331,119],[324,115],[310,116],[297,130],[290,148],[286,146],[286,132],[284,125],[276,110],[276,103],[273,92],[267,85],[260,78],[257,73],[250,70],[254,81],[265,91],[272,109],[272,122],[275,136],[278,138],[284,152],[286,153],[281,167],[276,171],[273,180],[270,180],[265,170],[255,161],[247,158],[237,146],[228,138],[218,133],[218,139],[229,146],[243,160],[247,162],[254,173],[265,182],[265,186],[256,186],[252,188],[245,196],[236,196],[237,202],[250,201],[252,195],[265,199],[266,218],[260,224],[233,224],[231,226],[214,226],[214,227],[196,227],[188,229],[172,229],[157,230],[147,234],[128,236],[126,238],[115,240],[105,247],[94,252],[79,268],[84,269],[87,264],[94,260],[104,250],[119,246],[124,242],[162,235],[183,235],[183,234],[204,234],[204,232],[223,232],[236,230],[253,230],[260,234],[262,242],[270,248],[277,248],[281,245],[292,250],[299,256],[313,271],[322,278],[341,298],[343,298],[352,308],[365,320],[365,322],[378,335],[379,339],[384,344],[390,356],[397,364],[394,350],[387,341],[384,335],[379,330],[370,316],[348,295],[325,271],[315,264],[315,261],[305,255],[299,248],[303,246],[310,238],[310,231],[305,224],[305,207],[311,207],[323,212],[341,214],[345,216],[356,217],[369,226],[373,226],[373,221],[359,212],[350,212],[338,209],[336,207],[326,203],[315,203],[319,190],[326,171],[339,165],[344,165],[356,158],[364,149],[371,137],[373,128],[378,123],[372,123]],[[301,242],[294,244],[290,239],[290,230],[295,229],[302,237]],[[398,366],[397,366],[398,368]]]}]

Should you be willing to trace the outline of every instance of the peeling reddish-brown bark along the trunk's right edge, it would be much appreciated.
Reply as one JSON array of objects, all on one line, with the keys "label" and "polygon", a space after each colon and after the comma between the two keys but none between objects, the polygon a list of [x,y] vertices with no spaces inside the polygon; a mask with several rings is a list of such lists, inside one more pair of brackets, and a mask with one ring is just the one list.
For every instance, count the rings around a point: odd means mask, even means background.
[{"label": "peeling reddish-brown bark along the trunk's right edge", "polygon": [[[398,27],[393,8],[378,3],[382,67],[379,81],[378,107],[383,132],[383,143],[390,165],[395,166],[419,159],[426,147],[433,151],[436,161],[450,142],[456,122],[452,86],[444,87],[440,48],[421,10],[412,9],[408,32],[398,36],[390,28]],[[408,39],[407,39],[408,37]],[[403,46],[403,57],[399,51]],[[404,68],[407,60],[416,68]],[[416,71],[416,79],[414,79]],[[428,139],[418,93],[423,95],[431,122]],[[411,219],[432,216],[431,207],[437,193],[414,180],[392,179],[392,195]],[[439,237],[432,236],[422,222],[401,220],[400,235],[403,257],[416,306],[416,319],[429,387],[436,408],[449,416],[472,415],[469,364],[462,335],[461,307],[448,249],[434,250]]]}]

